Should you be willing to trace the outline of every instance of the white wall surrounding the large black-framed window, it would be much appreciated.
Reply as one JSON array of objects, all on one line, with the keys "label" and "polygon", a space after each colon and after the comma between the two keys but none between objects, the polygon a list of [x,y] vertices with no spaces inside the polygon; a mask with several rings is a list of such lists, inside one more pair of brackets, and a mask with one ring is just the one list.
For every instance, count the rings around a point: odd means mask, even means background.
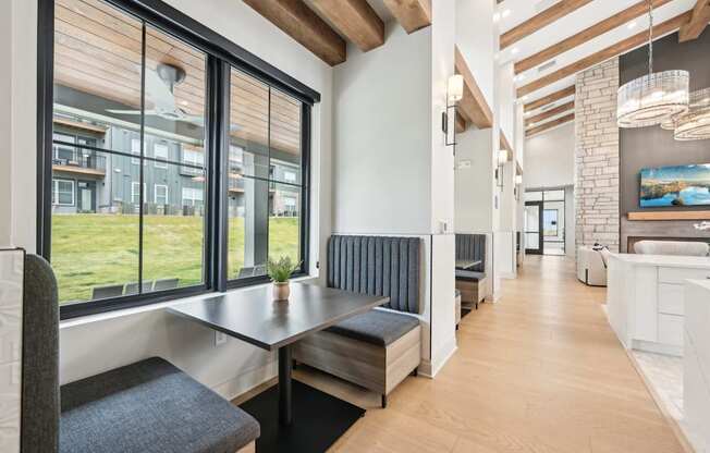
[{"label": "white wall surrounding the large black-framed window", "polygon": [[[311,148],[311,271],[330,234],[330,154],[332,70],[311,52],[258,15],[241,1],[168,0],[197,21],[246,48],[274,66],[319,91],[322,101],[313,110]],[[2,134],[0,146],[0,242],[11,223],[10,242],[35,250],[36,216],[36,1],[2,2],[0,16],[10,16],[12,39],[0,40],[7,68],[0,75],[0,100],[12,84],[12,101],[0,103],[0,131],[12,119],[12,144]],[[7,27],[1,27],[7,35]],[[7,36],[5,36],[7,38]],[[8,58],[12,56],[11,58]],[[12,79],[8,82],[8,75]],[[10,177],[7,169],[12,168]],[[1,184],[5,184],[2,186]],[[7,184],[11,186],[8,206]],[[325,255],[325,254],[323,254]],[[60,379],[62,382],[108,368],[160,355],[225,396],[274,376],[273,357],[238,341],[213,345],[213,332],[178,319],[154,306],[133,315],[98,315],[63,322],[60,331]],[[101,321],[90,322],[95,319]]]}]

